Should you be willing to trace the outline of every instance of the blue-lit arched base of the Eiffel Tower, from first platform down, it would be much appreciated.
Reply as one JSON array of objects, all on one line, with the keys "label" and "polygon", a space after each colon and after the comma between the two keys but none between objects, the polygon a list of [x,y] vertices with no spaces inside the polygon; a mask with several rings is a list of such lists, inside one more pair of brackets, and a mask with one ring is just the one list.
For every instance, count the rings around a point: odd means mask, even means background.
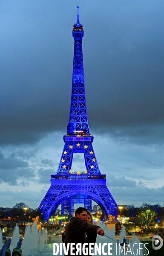
[{"label": "blue-lit arched base of the Eiffel Tower, from first platform down", "polygon": [[[60,204],[67,201],[69,204],[69,217],[74,210],[74,202],[79,199],[84,207],[87,200],[95,201],[104,215],[115,215],[117,204],[106,186],[105,175],[78,175],[78,179],[72,179],[72,175],[51,175],[51,186],[40,204],[45,221],[53,215]],[[85,203],[86,202],[86,203]],[[87,207],[86,207],[87,208]]]}]

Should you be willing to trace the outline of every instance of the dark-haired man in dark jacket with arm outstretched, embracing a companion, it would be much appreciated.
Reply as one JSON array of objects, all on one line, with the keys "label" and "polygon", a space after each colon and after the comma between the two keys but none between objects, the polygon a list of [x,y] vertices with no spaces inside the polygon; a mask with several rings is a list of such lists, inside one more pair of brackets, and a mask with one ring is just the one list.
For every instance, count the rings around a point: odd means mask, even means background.
[{"label": "dark-haired man in dark jacket with arm outstretched, embracing a companion", "polygon": [[[86,234],[89,233],[97,233],[100,236],[104,236],[104,230],[96,225],[93,225],[87,220],[87,209],[83,207],[79,207],[75,212],[75,217],[72,217],[69,221],[69,223],[66,225],[65,228],[65,240],[64,243],[75,243],[76,244],[81,243],[83,244],[86,242]],[[76,249],[73,251],[76,255]],[[71,256],[70,250],[68,252],[68,256]]]}]

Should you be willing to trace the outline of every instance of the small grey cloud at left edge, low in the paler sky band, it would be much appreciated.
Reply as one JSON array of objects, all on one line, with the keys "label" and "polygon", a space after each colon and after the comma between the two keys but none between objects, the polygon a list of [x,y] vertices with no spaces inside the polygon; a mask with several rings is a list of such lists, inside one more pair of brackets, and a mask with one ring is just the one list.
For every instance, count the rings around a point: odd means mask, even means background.
[{"label": "small grey cloud at left edge, low in the paler sky band", "polygon": [[4,157],[0,152],[0,183],[6,182],[11,185],[17,185],[17,180],[35,177],[34,172],[29,168],[29,163],[14,157]]}]

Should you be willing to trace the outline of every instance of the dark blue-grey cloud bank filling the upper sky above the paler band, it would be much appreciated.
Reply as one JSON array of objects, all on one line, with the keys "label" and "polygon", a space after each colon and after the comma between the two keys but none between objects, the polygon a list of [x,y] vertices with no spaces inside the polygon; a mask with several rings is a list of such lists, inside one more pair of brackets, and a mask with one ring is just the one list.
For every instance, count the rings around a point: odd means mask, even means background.
[{"label": "dark blue-grey cloud bank filling the upper sky above the paler band", "polygon": [[[66,132],[76,5],[1,1],[1,145],[35,143],[47,132]],[[139,133],[142,138],[144,133],[134,126],[150,133],[150,125],[163,124],[163,12],[163,1],[81,4],[86,103],[93,131],[114,136],[120,129],[126,137],[131,130],[132,137]]]}]

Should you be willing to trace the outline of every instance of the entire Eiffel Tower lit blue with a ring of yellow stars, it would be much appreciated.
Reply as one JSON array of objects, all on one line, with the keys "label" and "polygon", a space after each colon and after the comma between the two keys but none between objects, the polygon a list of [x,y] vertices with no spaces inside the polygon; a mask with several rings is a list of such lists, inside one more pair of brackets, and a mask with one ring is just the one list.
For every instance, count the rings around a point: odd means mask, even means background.
[{"label": "entire Eiffel Tower lit blue with a ring of yellow stars", "polygon": [[[89,132],[83,73],[84,31],[79,15],[72,35],[74,58],[69,123],[67,134],[63,136],[65,144],[58,170],[55,175],[51,175],[51,186],[38,208],[45,221],[48,221],[49,216],[55,215],[60,204],[61,213],[69,215],[69,218],[74,213],[74,204],[84,204],[84,207],[92,211],[92,200],[101,207],[106,217],[109,214],[115,215],[117,209],[117,204],[106,186],[106,175],[99,170],[92,146],[93,135]],[[76,153],[84,155],[86,170],[83,172],[71,170],[73,154]]]}]

